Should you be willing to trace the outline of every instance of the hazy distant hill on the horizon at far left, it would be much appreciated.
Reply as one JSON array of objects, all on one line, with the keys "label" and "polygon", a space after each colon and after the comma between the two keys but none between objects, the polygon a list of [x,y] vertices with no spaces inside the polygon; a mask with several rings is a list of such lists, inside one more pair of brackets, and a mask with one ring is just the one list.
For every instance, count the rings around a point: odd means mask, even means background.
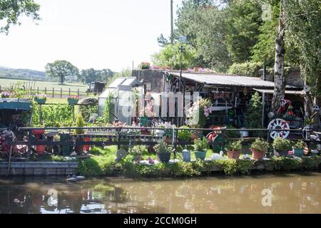
[{"label": "hazy distant hill on the horizon at far left", "polygon": [[0,66],[0,78],[13,78],[46,81],[46,73],[44,71],[34,71],[29,69],[14,69]]}]

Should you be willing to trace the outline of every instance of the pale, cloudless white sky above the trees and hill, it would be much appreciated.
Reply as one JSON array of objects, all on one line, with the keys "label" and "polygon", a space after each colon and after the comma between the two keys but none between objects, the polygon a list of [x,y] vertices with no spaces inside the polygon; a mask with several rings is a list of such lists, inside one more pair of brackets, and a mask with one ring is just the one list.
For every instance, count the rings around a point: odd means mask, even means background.
[{"label": "pale, cloudless white sky above the trees and hill", "polygon": [[[151,62],[157,37],[170,36],[170,0],[35,0],[41,21],[21,18],[0,34],[0,66],[44,71],[66,60],[79,69]],[[173,0],[174,18],[181,0]]]}]

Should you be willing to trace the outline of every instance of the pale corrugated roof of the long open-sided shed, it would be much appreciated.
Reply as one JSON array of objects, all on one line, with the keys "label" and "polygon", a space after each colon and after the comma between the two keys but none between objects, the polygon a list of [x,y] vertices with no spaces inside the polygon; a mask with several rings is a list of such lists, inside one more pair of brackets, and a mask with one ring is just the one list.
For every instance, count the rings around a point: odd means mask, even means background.
[{"label": "pale corrugated roof of the long open-sided shed", "polygon": [[[180,76],[179,72],[168,72],[173,76]],[[264,81],[261,78],[236,76],[217,73],[182,73],[182,77],[197,83],[204,83],[211,86],[246,86],[254,88],[274,88],[274,83]],[[295,88],[287,86],[287,88]]]}]

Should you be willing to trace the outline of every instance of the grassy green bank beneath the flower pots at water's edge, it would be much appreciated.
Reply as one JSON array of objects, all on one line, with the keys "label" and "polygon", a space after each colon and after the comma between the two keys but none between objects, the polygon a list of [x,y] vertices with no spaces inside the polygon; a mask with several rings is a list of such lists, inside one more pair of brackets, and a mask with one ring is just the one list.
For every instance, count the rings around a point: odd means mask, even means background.
[{"label": "grassy green bank beneath the flower pots at water's edge", "polygon": [[[259,162],[255,160],[214,160],[195,162],[176,162],[175,164],[158,163],[156,165],[139,165],[133,162],[133,155],[116,161],[116,147],[104,150],[95,148],[93,157],[78,160],[78,174],[88,177],[113,176],[124,177],[198,177],[210,175],[211,171],[220,171],[223,175],[250,175],[255,167],[264,163],[267,171],[318,171],[321,168],[321,157],[272,157],[271,160]],[[211,153],[208,152],[208,156]],[[193,153],[192,153],[193,155]],[[156,155],[143,152],[143,159],[156,159]],[[173,158],[173,157],[172,157]]]}]

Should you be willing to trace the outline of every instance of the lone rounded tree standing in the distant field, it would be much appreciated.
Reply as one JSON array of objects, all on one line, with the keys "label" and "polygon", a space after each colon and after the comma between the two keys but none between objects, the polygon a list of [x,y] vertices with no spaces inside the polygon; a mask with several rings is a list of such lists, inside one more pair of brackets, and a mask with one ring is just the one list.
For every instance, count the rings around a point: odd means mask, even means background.
[{"label": "lone rounded tree standing in the distant field", "polygon": [[61,85],[66,77],[79,76],[79,70],[76,66],[65,60],[58,60],[46,65],[46,76],[50,78],[60,78]]}]

